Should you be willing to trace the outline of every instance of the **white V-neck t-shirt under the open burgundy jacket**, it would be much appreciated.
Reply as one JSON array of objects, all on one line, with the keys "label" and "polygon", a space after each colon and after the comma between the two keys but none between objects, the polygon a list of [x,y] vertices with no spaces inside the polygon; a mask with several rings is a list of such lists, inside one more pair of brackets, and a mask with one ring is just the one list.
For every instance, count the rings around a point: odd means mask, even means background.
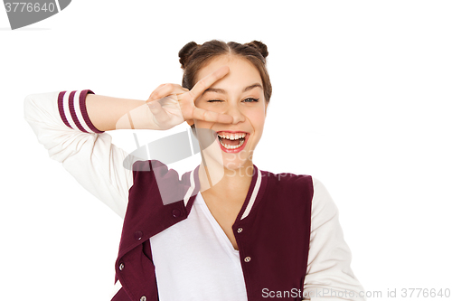
[{"label": "white V-neck t-shirt under the open burgundy jacket", "polygon": [[201,193],[186,220],[150,241],[161,301],[247,300],[239,250],[234,249]]}]

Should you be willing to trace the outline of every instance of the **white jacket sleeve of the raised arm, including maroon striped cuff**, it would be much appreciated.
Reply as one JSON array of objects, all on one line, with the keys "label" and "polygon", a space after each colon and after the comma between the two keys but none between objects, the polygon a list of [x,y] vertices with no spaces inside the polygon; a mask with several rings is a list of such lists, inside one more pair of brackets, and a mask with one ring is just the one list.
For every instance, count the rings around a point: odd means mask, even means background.
[{"label": "white jacket sleeve of the raised arm, including maroon striped cuff", "polygon": [[128,189],[133,183],[131,168],[124,167],[127,153],[90,122],[85,106],[88,93],[93,92],[85,89],[29,95],[24,101],[24,118],[50,157],[124,218]]}]

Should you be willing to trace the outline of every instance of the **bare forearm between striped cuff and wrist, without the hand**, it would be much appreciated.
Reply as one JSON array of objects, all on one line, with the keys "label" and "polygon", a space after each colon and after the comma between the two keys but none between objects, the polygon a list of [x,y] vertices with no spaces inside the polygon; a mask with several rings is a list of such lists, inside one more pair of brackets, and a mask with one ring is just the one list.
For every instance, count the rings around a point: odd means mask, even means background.
[{"label": "bare forearm between striped cuff and wrist, without the hand", "polygon": [[89,120],[100,131],[127,128],[152,129],[150,123],[152,113],[146,106],[145,100],[88,94],[86,107]]}]

